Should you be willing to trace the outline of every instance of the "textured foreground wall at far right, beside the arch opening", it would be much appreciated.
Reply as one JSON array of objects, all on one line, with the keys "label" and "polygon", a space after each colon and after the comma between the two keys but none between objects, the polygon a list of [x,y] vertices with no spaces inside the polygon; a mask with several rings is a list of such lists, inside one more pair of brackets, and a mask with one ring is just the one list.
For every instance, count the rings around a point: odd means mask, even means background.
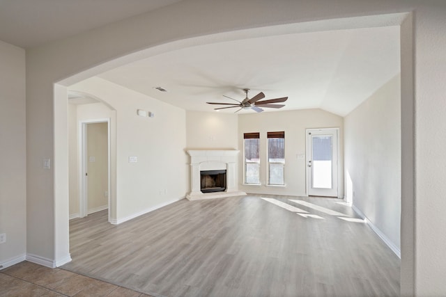
[{"label": "textured foreground wall at far right, beside the arch opening", "polygon": [[416,10],[414,29],[413,230],[416,240],[415,290],[420,296],[446,296],[446,3],[434,3],[435,5]]}]

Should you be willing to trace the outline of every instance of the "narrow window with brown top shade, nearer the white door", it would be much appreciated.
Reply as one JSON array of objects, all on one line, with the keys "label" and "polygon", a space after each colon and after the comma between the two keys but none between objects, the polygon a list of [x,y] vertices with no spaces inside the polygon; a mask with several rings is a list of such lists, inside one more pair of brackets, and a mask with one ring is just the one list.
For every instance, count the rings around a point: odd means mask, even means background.
[{"label": "narrow window with brown top shade, nearer the white door", "polygon": [[285,132],[268,132],[268,184],[284,185]]}]

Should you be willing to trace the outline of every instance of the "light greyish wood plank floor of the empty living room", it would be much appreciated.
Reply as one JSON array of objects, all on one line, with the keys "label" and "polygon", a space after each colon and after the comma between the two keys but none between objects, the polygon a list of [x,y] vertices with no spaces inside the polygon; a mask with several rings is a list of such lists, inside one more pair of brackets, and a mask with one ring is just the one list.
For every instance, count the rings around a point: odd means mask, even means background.
[{"label": "light greyish wood plank floor of the empty living room", "polygon": [[290,199],[357,218],[341,200],[272,195],[180,200],[121,225],[100,211],[70,220],[61,268],[152,296],[399,296],[400,261],[366,224]]}]

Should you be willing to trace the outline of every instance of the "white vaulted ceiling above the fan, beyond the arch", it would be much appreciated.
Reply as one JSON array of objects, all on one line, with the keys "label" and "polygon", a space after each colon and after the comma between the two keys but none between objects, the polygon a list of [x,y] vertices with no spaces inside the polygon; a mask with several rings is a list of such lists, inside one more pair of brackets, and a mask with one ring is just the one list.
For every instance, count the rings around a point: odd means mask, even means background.
[{"label": "white vaulted ceiling above the fan, beyond the arch", "polygon": [[281,111],[316,108],[344,116],[399,74],[399,65],[399,27],[387,26],[199,45],[99,77],[187,110],[213,111],[223,106],[206,102],[234,103],[223,95],[241,101],[249,88],[249,97],[288,96]]}]

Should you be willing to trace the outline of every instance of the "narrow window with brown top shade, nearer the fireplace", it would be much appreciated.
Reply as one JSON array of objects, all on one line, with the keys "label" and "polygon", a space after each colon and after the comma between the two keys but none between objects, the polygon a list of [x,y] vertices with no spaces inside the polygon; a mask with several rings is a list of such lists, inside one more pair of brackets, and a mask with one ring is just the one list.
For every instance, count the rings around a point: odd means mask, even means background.
[{"label": "narrow window with brown top shade, nearer the fireplace", "polygon": [[245,144],[245,184],[260,184],[260,134],[243,134]]}]

